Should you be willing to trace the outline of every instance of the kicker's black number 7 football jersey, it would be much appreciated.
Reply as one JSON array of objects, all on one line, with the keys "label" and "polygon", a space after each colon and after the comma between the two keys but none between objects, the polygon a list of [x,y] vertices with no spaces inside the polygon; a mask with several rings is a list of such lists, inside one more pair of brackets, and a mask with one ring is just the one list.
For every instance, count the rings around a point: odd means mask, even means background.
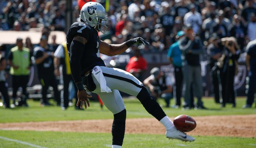
[{"label": "kicker's black number 7 football jersey", "polygon": [[[104,61],[99,57],[99,36],[98,31],[83,22],[75,22],[71,25],[67,33],[68,54],[74,36],[86,38],[84,53],[81,59],[81,76],[94,66],[105,66]],[[70,56],[70,54],[69,54]]]}]

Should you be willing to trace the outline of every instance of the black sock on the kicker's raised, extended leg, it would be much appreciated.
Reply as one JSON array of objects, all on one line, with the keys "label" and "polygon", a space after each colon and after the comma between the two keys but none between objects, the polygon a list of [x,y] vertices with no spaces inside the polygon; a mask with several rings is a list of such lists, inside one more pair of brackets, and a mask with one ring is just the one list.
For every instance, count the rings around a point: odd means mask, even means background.
[{"label": "black sock on the kicker's raised, extended leg", "polygon": [[142,87],[141,91],[137,95],[138,100],[144,106],[147,112],[153,115],[157,120],[161,120],[166,116],[160,105],[156,100],[149,94],[145,87]]}]

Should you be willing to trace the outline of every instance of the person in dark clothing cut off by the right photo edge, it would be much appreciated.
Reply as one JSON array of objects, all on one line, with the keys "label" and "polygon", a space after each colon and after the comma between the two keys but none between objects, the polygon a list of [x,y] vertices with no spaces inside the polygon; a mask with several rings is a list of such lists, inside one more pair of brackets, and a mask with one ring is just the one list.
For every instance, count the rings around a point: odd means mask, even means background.
[{"label": "person in dark clothing cut off by the right photo edge", "polygon": [[[255,34],[256,36],[256,34]],[[251,108],[255,98],[256,90],[256,39],[250,41],[246,46],[246,66],[249,71],[249,83],[247,91],[247,100],[246,105],[243,105],[243,108]],[[255,105],[256,107],[256,105]]]}]

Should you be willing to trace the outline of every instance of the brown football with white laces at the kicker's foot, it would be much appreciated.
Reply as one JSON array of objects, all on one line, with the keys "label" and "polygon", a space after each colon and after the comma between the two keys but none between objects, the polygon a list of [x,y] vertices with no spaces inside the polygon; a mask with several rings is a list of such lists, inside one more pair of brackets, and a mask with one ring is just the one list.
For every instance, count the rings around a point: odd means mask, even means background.
[{"label": "brown football with white laces at the kicker's foot", "polygon": [[196,128],[196,121],[189,115],[179,115],[175,117],[173,124],[175,128],[182,132],[190,132]]}]

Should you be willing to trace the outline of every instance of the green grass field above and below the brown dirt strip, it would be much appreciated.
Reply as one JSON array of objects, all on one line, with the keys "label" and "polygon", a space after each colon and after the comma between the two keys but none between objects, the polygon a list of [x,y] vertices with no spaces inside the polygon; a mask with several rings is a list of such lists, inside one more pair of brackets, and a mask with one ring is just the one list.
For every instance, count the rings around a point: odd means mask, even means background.
[{"label": "green grass field above and below the brown dirt strip", "polygon": [[[2,100],[1,100],[2,101]],[[52,100],[51,100],[52,101]],[[204,105],[209,110],[181,110],[163,108],[170,117],[181,114],[194,116],[205,115],[248,115],[256,114],[255,106],[242,109],[245,98],[237,98],[237,107],[228,104],[220,108],[212,98],[204,98]],[[135,99],[124,99],[127,118],[152,117]],[[173,104],[174,101],[171,100]],[[101,110],[98,102],[90,102],[90,107],[84,111],[69,107],[40,107],[39,101],[29,100],[29,107],[4,109],[0,107],[0,123],[57,121],[57,120],[90,120],[112,119],[112,113],[104,107]],[[164,105],[163,100],[159,101]],[[104,124],[104,123],[103,123]],[[85,127],[90,128],[90,127]],[[0,127],[1,129],[1,127]],[[154,134],[125,134],[123,148],[255,148],[255,138],[234,138],[218,136],[194,136],[196,141],[184,143],[179,140],[168,140],[165,135]],[[16,131],[0,130],[0,148],[110,148],[111,133],[79,133],[79,132],[45,132],[45,131]]]}]

